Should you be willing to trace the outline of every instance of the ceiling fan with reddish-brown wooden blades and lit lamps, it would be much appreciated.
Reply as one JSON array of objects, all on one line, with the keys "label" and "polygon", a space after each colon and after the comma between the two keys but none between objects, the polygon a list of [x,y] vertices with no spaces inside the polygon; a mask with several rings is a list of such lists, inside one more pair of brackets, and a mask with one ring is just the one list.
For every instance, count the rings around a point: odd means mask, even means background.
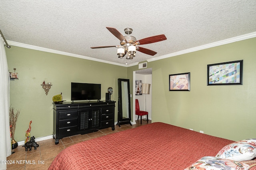
[{"label": "ceiling fan with reddish-brown wooden blades and lit lamps", "polygon": [[132,28],[125,28],[124,32],[127,34],[123,36],[117,29],[112,27],[106,27],[108,31],[110,31],[114,36],[116,36],[120,40],[120,45],[114,46],[101,46],[101,47],[91,47],[92,49],[100,49],[100,48],[108,48],[108,47],[117,47],[117,55],[118,58],[122,59],[126,54],[126,59],[133,59],[135,57],[136,51],[140,51],[141,53],[145,53],[148,55],[156,55],[155,51],[150,49],[146,49],[143,47],[138,47],[138,45],[156,43],[158,41],[164,41],[167,38],[164,34],[162,35],[155,35],[152,37],[147,37],[144,39],[137,40],[135,37],[130,36],[132,33]]}]

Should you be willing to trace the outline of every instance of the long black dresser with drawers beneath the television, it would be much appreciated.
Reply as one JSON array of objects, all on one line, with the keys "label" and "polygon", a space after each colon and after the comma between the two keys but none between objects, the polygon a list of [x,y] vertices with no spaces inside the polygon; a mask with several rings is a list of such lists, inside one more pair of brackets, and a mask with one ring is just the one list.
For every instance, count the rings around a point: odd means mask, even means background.
[{"label": "long black dresser with drawers beneath the television", "polygon": [[53,103],[53,139],[96,132],[112,127],[115,130],[115,101]]}]

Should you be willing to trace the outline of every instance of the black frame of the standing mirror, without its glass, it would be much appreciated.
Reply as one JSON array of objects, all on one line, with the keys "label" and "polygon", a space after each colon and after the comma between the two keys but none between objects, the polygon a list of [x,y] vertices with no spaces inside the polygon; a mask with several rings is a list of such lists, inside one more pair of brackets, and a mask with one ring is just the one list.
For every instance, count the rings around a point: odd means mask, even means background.
[{"label": "black frame of the standing mirror, without its glass", "polygon": [[[129,118],[123,118],[123,110],[122,110],[122,82],[127,82],[127,90],[128,90],[128,114]],[[119,127],[120,125],[124,124],[130,124],[131,120],[131,101],[130,101],[130,80],[129,79],[123,79],[123,78],[118,78],[118,121],[117,124]]]}]

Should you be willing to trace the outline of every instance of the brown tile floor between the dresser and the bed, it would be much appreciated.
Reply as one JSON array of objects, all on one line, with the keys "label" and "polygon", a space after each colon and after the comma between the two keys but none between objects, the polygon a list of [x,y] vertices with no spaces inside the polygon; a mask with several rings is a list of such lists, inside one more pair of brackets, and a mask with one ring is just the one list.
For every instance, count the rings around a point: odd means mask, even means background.
[{"label": "brown tile floor between the dresser and the bed", "polygon": [[[148,123],[151,123],[149,120]],[[146,125],[147,121],[142,120],[142,125]],[[112,131],[111,127],[106,129],[101,129],[94,133],[88,133],[84,135],[75,135],[71,137],[66,137],[60,139],[59,144],[55,145],[54,139],[48,139],[44,141],[39,141],[37,144],[39,147],[34,150],[32,148],[31,151],[25,151],[25,148],[22,146],[18,146],[16,149],[12,150],[12,155],[7,157],[9,162],[13,162],[15,164],[7,164],[7,170],[47,170],[55,156],[61,152],[63,149],[74,145],[76,143],[86,141],[89,139],[93,139],[96,137],[100,137],[103,135],[108,135],[111,133],[116,133],[120,131],[124,131],[126,129],[131,129],[141,126],[140,120],[135,125],[121,125],[115,126],[115,130]]]}]

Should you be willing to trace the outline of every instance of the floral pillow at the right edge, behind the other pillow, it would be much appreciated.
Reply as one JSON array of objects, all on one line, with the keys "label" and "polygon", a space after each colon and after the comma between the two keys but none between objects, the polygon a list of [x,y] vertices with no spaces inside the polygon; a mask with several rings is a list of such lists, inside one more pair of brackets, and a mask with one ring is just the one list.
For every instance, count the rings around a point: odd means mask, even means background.
[{"label": "floral pillow at the right edge, behind the other pillow", "polygon": [[256,139],[245,139],[226,145],[216,157],[236,161],[252,160],[256,157]]}]

